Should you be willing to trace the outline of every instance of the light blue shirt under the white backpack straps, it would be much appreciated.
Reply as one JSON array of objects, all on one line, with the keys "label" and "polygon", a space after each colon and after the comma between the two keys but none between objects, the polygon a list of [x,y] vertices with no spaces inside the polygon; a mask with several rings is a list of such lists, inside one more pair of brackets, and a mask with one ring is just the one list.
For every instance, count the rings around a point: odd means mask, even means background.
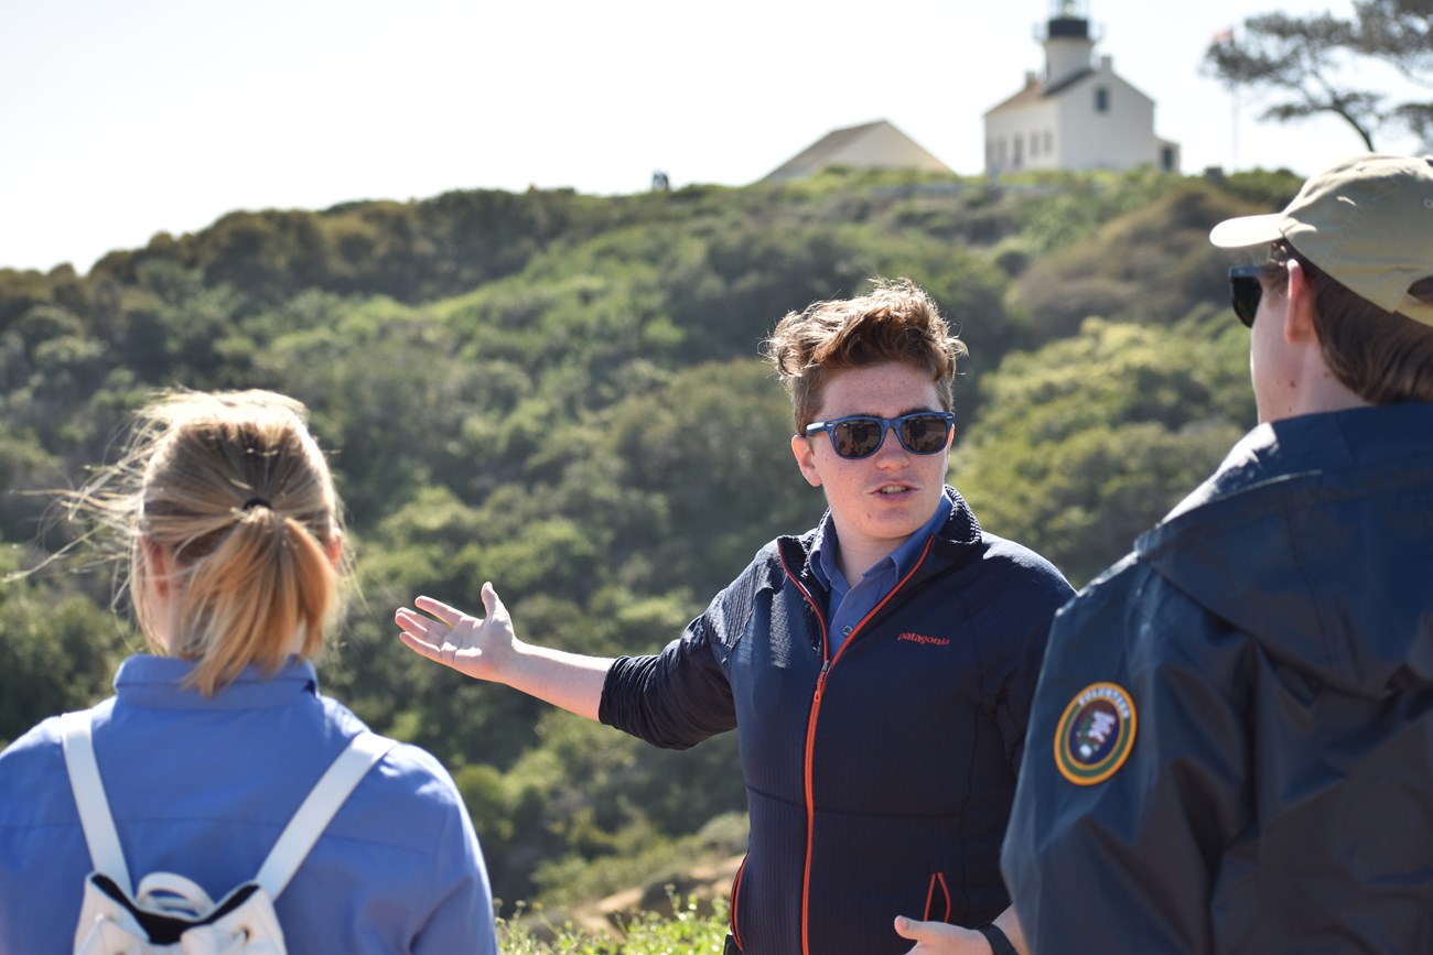
[{"label": "light blue shirt under the white backpack straps", "polygon": [[[185,660],[136,656],[95,707],[95,755],[130,879],[219,899],[252,879],[363,729],[308,663],[249,667],[211,699]],[[69,952],[89,849],[52,717],[0,753],[0,952]],[[447,770],[398,745],[348,796],[275,902],[291,952],[496,955],[483,853]]]}]

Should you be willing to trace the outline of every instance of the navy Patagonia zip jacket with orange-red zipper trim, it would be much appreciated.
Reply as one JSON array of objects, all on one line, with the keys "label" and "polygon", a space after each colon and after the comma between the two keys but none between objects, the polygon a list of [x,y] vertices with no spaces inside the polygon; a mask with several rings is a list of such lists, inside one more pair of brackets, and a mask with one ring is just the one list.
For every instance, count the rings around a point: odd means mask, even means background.
[{"label": "navy Patagonia zip jacket with orange-red zipper trim", "polygon": [[834,656],[808,531],[608,674],[603,723],[676,749],[738,730],[751,840],[732,931],[748,955],[906,952],[896,915],[973,926],[1009,903],[1000,842],[1072,590],[946,493],[941,531]]}]

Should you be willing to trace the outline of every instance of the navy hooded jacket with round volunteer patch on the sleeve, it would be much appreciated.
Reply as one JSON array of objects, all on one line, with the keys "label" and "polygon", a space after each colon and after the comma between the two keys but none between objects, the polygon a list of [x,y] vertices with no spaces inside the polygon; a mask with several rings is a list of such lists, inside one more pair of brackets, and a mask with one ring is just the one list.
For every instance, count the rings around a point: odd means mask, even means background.
[{"label": "navy hooded jacket with round volunteer patch on the sleeve", "polygon": [[1433,952],[1433,404],[1255,428],[1059,613],[1005,872],[1037,955]]}]

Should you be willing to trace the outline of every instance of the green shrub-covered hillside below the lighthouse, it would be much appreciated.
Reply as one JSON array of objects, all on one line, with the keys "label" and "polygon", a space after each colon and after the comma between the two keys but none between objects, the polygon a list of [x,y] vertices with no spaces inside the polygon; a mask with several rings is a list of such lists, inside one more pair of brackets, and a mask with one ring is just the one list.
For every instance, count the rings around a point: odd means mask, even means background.
[{"label": "green shrub-covered hillside below the lighthouse", "polygon": [[[1230,262],[1205,236],[1297,188],[834,170],[453,192],[235,212],[83,276],[0,269],[0,576],[76,543],[44,491],[105,460],[153,388],[288,392],[334,452],[358,554],[324,690],[450,766],[504,911],[659,883],[741,852],[735,742],[656,752],[464,680],[403,649],[393,610],[476,607],[493,580],[524,637],[661,647],[820,517],[755,355],[787,311],[877,275],[930,289],[969,342],[952,483],[1085,583],[1252,424]],[[107,694],[140,646],[110,613],[113,570],[80,546],[0,584],[0,742]]]}]

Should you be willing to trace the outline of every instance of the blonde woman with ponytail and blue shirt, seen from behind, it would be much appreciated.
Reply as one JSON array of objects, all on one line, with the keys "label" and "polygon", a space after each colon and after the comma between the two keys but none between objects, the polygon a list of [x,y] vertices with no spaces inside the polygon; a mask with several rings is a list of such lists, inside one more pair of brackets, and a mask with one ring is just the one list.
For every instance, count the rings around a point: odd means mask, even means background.
[{"label": "blonde woman with ponytail and blue shirt, seen from behind", "polygon": [[[311,663],[345,578],[328,464],[297,401],[173,392],[69,497],[128,554],[152,650],[90,712],[129,871],[178,872],[219,899],[365,729],[318,693]],[[52,717],[0,753],[0,952],[70,951],[90,868]],[[408,745],[367,772],[274,908],[291,952],[496,954],[471,820]]]}]

